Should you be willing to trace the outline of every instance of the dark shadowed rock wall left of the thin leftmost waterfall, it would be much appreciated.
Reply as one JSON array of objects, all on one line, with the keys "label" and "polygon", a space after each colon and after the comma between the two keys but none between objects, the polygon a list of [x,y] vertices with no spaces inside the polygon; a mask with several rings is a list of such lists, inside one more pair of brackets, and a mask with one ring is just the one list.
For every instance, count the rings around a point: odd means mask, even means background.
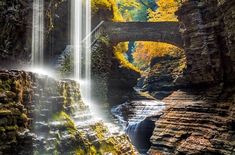
[{"label": "dark shadowed rock wall left of the thin leftmost waterfall", "polygon": [[0,12],[1,68],[13,65],[13,62],[9,64],[7,63],[8,61],[19,63],[29,60],[31,51],[30,21],[32,21],[32,3],[26,0],[1,0]]}]

